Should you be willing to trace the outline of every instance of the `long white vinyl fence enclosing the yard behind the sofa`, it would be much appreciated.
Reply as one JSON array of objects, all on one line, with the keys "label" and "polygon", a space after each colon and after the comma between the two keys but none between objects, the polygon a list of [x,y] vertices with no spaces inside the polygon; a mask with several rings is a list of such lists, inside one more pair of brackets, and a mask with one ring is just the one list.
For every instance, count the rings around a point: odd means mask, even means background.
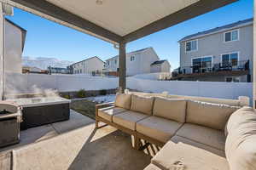
[{"label": "long white vinyl fence enclosing the yard behind the sofa", "polygon": [[[74,75],[38,75],[7,74],[6,94],[33,94],[45,89],[59,92],[100,90],[118,88],[118,78],[88,77]],[[252,99],[253,83],[251,82],[190,82],[190,81],[154,81],[127,78],[127,88],[143,92],[202,96],[223,99],[237,99],[248,96]]]}]

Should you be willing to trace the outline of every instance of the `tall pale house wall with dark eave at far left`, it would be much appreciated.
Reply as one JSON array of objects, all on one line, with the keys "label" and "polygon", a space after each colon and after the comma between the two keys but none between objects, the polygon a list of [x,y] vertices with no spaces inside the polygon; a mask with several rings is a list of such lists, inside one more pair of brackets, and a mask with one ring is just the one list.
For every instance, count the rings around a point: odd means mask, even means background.
[{"label": "tall pale house wall with dark eave at far left", "polygon": [[22,52],[26,40],[26,30],[11,20],[4,22],[4,65],[6,72],[22,72]]}]

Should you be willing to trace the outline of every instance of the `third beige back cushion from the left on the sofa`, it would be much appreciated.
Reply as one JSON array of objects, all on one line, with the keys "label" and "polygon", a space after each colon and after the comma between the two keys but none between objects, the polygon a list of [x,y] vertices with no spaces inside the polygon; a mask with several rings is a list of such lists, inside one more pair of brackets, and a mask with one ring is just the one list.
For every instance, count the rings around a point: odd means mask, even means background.
[{"label": "third beige back cushion from the left on the sofa", "polygon": [[153,115],[171,119],[176,122],[185,122],[186,118],[185,99],[154,99]]}]

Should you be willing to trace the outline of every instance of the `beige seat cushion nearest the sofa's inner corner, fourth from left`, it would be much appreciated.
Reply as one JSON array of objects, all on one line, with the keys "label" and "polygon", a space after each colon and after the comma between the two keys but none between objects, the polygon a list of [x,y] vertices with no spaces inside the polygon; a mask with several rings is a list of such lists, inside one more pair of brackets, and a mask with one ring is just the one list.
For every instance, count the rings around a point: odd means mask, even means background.
[{"label": "beige seat cushion nearest the sofa's inner corner, fourth from left", "polygon": [[178,129],[176,135],[212,146],[218,150],[225,149],[225,135],[224,132],[220,130],[185,123],[183,127]]}]

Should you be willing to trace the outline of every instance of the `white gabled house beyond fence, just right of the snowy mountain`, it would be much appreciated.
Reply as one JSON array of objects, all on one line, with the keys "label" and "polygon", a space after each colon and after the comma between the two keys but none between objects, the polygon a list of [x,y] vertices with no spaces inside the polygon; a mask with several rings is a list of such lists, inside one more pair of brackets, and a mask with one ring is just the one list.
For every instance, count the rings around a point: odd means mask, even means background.
[{"label": "white gabled house beyond fence, just right of the snowy mountain", "polygon": [[68,70],[73,71],[72,74],[94,74],[95,72],[102,72],[104,64],[102,59],[95,56],[74,63],[71,67],[68,66]]}]

